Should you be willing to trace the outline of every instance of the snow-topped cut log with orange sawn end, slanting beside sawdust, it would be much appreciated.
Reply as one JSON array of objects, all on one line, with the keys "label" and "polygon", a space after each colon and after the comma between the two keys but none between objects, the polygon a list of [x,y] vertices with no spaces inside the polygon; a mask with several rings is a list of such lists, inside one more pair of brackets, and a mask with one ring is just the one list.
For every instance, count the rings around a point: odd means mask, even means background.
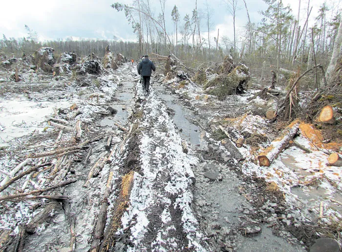
[{"label": "snow-topped cut log with orange sawn end, slanting beside sawdust", "polygon": [[294,121],[287,126],[280,136],[271,142],[263,152],[259,153],[257,159],[260,166],[269,167],[273,160],[278,158],[280,152],[290,143],[290,141],[297,135],[299,130],[299,122]]}]

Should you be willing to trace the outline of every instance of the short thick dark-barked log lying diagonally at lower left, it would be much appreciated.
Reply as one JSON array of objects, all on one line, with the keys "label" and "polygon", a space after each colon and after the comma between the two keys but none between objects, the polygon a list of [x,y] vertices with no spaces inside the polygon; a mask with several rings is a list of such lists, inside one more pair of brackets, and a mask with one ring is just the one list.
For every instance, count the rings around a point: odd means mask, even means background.
[{"label": "short thick dark-barked log lying diagonally at lower left", "polygon": [[35,233],[39,226],[51,219],[60,210],[62,210],[62,206],[56,201],[47,204],[46,207],[27,224],[26,231],[29,234]]}]

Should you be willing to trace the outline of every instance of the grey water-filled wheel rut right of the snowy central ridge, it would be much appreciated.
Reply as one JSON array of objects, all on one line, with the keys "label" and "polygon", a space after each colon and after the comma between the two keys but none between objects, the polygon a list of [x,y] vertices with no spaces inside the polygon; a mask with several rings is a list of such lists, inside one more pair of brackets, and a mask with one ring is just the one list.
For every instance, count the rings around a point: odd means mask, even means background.
[{"label": "grey water-filled wheel rut right of the snowy central ridge", "polygon": [[[241,193],[245,183],[238,177],[227,161],[206,160],[205,154],[197,151],[208,150],[208,142],[204,140],[205,131],[191,123],[193,115],[177,103],[177,98],[167,91],[163,86],[154,84],[157,96],[162,99],[174,114],[172,119],[179,128],[180,135],[192,145],[194,155],[199,156],[200,163],[193,167],[195,175],[194,203],[202,230],[209,236],[216,237],[216,246],[221,242],[229,245],[234,240],[232,248],[235,251],[304,251],[299,246],[293,246],[286,239],[273,234],[272,229],[266,225],[257,224],[260,229],[253,236],[245,237],[233,230],[239,230],[247,220],[247,216],[253,215],[253,207],[247,201],[248,195]],[[190,120],[189,120],[190,118]],[[222,150],[211,145],[211,151],[222,156]],[[233,157],[229,152],[224,153],[228,159]],[[227,159],[226,159],[227,160]],[[234,231],[233,231],[234,233]],[[223,247],[215,247],[220,250]],[[227,247],[229,249],[229,246]],[[224,250],[230,251],[230,250]]]}]

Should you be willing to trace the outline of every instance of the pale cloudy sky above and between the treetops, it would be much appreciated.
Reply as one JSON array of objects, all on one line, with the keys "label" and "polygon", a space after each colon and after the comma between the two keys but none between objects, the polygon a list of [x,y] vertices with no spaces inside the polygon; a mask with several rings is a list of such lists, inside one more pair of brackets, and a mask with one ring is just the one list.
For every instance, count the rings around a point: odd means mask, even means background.
[{"label": "pale cloudy sky above and between the treetops", "polygon": [[[284,5],[290,4],[293,14],[297,17],[299,0],[283,0]],[[341,0],[327,0],[328,5],[336,6]],[[0,35],[7,38],[27,37],[25,24],[37,32],[40,41],[57,40],[72,37],[76,39],[112,39],[115,35],[123,41],[136,41],[131,25],[123,12],[117,12],[110,5],[111,0],[5,0],[1,3]],[[121,3],[131,3],[132,0],[121,0]],[[155,17],[160,12],[159,0],[150,0]],[[212,36],[217,36],[220,29],[220,37],[233,38],[233,18],[229,14],[224,0],[208,0],[212,9]],[[243,1],[239,2],[239,10],[236,18],[237,36],[246,24],[246,10]],[[290,3],[291,2],[291,3]],[[314,7],[312,19],[317,16],[319,6],[324,0],[310,0]],[[206,0],[197,0],[199,10],[205,10]],[[247,8],[252,22],[261,21],[259,11],[265,10],[267,5],[263,0],[246,0]],[[306,18],[308,0],[301,0],[301,22]],[[195,0],[166,0],[165,16],[168,33],[173,32],[171,22],[171,10],[178,7],[180,24],[183,18],[190,14],[195,6]],[[341,6],[341,5],[340,5]],[[205,20],[202,20],[205,23]],[[206,27],[202,28],[203,33]],[[206,35],[205,35],[206,36]]]}]

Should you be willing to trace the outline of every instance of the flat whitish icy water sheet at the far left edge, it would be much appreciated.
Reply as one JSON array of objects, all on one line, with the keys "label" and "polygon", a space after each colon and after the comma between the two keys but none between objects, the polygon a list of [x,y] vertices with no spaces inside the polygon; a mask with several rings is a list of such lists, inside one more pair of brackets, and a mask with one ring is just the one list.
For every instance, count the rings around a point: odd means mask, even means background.
[{"label": "flat whitish icy water sheet at the far left edge", "polygon": [[[50,116],[53,107],[68,107],[72,102],[33,102],[24,96],[15,100],[0,102],[0,146],[14,138],[27,135],[33,131],[43,131],[45,116]],[[37,122],[38,125],[37,126]]]}]

